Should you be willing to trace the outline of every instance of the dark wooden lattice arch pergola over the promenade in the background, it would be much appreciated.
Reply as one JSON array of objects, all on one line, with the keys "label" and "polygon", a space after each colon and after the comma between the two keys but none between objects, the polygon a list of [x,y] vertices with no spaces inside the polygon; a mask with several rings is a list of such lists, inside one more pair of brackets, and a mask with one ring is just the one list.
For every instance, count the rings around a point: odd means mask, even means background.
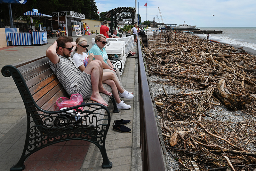
[{"label": "dark wooden lattice arch pergola over the promenade in the background", "polygon": [[113,35],[113,23],[114,23],[114,28],[116,28],[118,22],[122,17],[123,18],[132,17],[132,25],[134,25],[135,13],[136,13],[136,10],[131,7],[118,7],[106,12],[105,16],[111,19],[111,24],[110,24],[111,35]]}]

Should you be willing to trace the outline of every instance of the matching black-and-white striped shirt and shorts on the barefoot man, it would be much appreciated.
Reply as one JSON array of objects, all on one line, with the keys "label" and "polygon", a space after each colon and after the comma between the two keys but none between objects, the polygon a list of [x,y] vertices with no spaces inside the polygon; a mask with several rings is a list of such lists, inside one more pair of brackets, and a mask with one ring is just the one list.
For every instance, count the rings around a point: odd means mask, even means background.
[{"label": "matching black-and-white striped shirt and shorts on the barefoot man", "polygon": [[71,57],[65,58],[61,55],[58,56],[60,62],[53,64],[50,61],[50,66],[67,93],[70,96],[79,93],[83,96],[83,99],[91,97],[91,75],[81,72]]}]

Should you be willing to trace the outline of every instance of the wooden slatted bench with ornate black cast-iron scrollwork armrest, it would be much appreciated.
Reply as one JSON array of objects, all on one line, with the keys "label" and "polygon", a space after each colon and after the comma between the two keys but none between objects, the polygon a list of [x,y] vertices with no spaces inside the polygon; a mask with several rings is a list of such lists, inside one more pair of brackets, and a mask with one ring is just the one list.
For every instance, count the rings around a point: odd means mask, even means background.
[{"label": "wooden slatted bench with ornate black cast-iron scrollwork armrest", "polygon": [[[32,153],[46,146],[68,140],[85,140],[95,144],[103,158],[102,168],[111,168],[105,140],[110,126],[110,112],[107,107],[89,99],[84,104],[59,111],[56,100],[70,96],[63,89],[49,65],[49,59],[36,57],[15,66],[2,68],[5,77],[12,76],[22,97],[27,113],[27,134],[20,160],[10,170],[23,170],[24,161]],[[103,84],[111,92],[110,86]],[[116,100],[101,93],[108,103],[109,98],[114,105],[114,113],[119,110]],[[78,109],[83,107],[83,110]],[[80,116],[75,117],[67,111],[76,109]]]}]

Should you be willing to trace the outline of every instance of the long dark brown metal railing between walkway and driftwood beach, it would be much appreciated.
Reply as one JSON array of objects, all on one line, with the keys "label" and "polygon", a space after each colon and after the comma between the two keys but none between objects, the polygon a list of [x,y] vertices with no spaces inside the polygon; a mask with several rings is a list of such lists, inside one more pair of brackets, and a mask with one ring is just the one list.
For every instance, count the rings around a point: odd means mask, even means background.
[{"label": "long dark brown metal railing between walkway and driftwood beach", "polygon": [[142,170],[164,171],[164,160],[157,131],[156,116],[149,92],[139,36],[137,38]]}]

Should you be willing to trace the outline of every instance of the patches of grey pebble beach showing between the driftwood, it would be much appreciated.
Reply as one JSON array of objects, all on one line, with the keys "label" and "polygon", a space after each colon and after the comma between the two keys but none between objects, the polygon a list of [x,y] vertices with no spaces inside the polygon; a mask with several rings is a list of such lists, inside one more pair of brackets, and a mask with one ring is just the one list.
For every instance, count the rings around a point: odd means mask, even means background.
[{"label": "patches of grey pebble beach showing between the driftwood", "polygon": [[[200,38],[204,38],[205,35],[199,36]],[[150,40],[150,38],[149,38]],[[214,40],[214,39],[212,39]],[[217,41],[217,40],[216,40]],[[150,41],[149,41],[150,42]],[[154,42],[156,43],[156,42]],[[226,43],[223,43],[226,44]],[[238,51],[240,52],[241,49],[238,49],[240,47],[243,47],[244,51],[247,52],[248,54],[251,55],[256,55],[256,50],[249,48],[249,47],[245,47],[245,46],[239,46],[239,45],[234,45],[234,44],[229,44],[231,46],[233,46],[234,48],[236,48]],[[148,69],[150,69],[148,67]],[[153,68],[154,69],[154,68]],[[163,86],[164,89],[166,91],[167,94],[179,94],[180,92],[183,93],[189,93],[189,92],[193,92],[193,89],[180,89],[179,86],[170,86],[170,85],[163,85],[163,84],[159,84],[159,82],[168,82],[168,79],[162,77],[162,76],[158,76],[155,74],[151,74],[150,76],[148,76],[148,82],[149,82],[149,88],[151,91],[151,96],[154,99],[155,97],[157,97],[160,94],[164,94],[164,90],[163,90]],[[214,106],[212,109],[210,109],[207,114],[210,116],[205,116],[204,120],[205,121],[212,121],[212,122],[221,122],[221,123],[234,123],[230,125],[230,129],[226,129],[226,131],[229,132],[234,132],[233,129],[239,129],[237,127],[237,125],[235,123],[237,122],[244,122],[246,120],[256,120],[256,118],[253,115],[247,114],[247,113],[243,113],[243,111],[234,111],[231,112],[228,110],[227,107],[223,106],[223,105],[219,105],[219,106]],[[160,117],[158,116],[158,118],[160,119]],[[240,128],[240,129],[244,129],[244,127]],[[246,131],[252,136],[252,138],[254,140],[256,140],[256,127],[255,125],[252,128],[246,128]],[[235,132],[234,132],[235,133]],[[220,144],[222,144],[223,142],[220,142]],[[256,153],[256,146],[255,143],[248,143],[247,145],[243,146],[244,149],[250,151],[250,152],[254,152]],[[167,152],[167,154],[165,155],[166,157],[166,166],[167,169],[169,171],[174,171],[174,170],[179,170],[180,166],[179,163],[177,162],[177,156],[175,155],[175,152],[169,151]],[[175,160],[176,159],[176,160]],[[207,170],[207,168],[205,168],[205,170]]]}]

